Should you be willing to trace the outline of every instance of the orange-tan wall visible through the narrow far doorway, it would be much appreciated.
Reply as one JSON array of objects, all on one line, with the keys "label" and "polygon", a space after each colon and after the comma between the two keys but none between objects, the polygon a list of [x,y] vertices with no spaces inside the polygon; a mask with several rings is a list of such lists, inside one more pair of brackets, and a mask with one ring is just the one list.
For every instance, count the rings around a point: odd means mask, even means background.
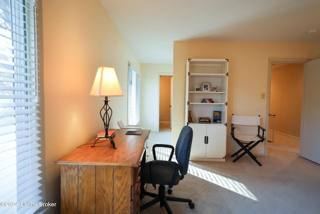
[{"label": "orange-tan wall visible through the narrow far doorway", "polygon": [[170,122],[170,80],[172,76],[160,76],[160,123]]}]

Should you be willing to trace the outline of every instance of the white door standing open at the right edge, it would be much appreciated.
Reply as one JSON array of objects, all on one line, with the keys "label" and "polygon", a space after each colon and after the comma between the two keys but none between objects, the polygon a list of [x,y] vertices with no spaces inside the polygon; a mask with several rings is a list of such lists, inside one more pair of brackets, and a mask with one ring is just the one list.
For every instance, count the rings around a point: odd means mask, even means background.
[{"label": "white door standing open at the right edge", "polygon": [[320,164],[320,59],[306,63],[300,154]]}]

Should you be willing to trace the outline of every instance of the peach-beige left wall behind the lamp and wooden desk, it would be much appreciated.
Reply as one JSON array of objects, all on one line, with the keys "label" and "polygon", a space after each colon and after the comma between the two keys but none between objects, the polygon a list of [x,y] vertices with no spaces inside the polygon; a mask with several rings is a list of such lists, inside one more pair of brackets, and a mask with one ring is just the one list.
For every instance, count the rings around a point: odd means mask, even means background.
[{"label": "peach-beige left wall behind the lamp and wooden desk", "polygon": [[59,205],[60,166],[52,162],[103,129],[102,98],[89,96],[97,68],[114,67],[119,79],[124,96],[109,97],[110,127],[118,128],[127,118],[127,63],[140,62],[98,0],[43,0],[42,18],[46,200]]}]

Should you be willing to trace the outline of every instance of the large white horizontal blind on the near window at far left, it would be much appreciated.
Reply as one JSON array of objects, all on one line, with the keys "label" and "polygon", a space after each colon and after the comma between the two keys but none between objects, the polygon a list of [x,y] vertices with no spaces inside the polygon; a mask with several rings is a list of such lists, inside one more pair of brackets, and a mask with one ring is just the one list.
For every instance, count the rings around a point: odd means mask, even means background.
[{"label": "large white horizontal blind on the near window at far left", "polygon": [[41,199],[35,10],[0,0],[0,213],[33,213]]}]

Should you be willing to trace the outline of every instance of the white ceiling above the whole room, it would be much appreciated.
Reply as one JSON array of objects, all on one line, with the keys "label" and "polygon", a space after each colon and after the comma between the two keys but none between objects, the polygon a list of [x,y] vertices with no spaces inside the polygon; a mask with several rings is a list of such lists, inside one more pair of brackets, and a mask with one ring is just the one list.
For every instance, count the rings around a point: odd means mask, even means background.
[{"label": "white ceiling above the whole room", "polygon": [[141,63],[172,63],[173,41],[320,42],[320,0],[99,2]]}]

